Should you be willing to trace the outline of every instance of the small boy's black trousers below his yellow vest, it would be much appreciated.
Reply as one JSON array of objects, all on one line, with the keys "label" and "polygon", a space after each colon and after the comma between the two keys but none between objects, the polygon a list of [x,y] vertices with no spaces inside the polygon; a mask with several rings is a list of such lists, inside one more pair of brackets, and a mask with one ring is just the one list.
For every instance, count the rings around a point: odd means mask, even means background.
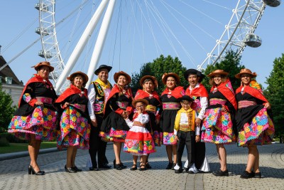
[{"label": "small boy's black trousers below his yellow vest", "polygon": [[182,168],[183,149],[187,149],[188,167],[195,163],[195,132],[178,131],[178,166]]}]

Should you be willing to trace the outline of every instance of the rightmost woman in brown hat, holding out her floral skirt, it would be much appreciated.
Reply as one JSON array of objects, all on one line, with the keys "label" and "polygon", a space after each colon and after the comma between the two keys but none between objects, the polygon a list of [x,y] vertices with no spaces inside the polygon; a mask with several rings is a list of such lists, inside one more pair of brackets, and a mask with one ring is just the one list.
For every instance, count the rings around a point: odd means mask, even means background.
[{"label": "rightmost woman in brown hat, holding out her floral skirt", "polygon": [[241,86],[236,89],[238,145],[249,149],[246,170],[241,174],[241,178],[260,178],[257,145],[271,144],[272,142],[274,125],[269,116],[271,105],[264,97],[261,86],[256,80],[253,80],[256,78],[256,73],[244,68],[235,77],[241,79]]}]

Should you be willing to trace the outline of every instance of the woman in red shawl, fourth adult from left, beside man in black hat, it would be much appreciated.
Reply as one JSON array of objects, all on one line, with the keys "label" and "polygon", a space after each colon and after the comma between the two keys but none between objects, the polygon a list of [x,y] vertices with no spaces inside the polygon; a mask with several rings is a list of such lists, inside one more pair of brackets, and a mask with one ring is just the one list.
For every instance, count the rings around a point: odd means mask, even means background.
[{"label": "woman in red shawl, fourth adult from left, beside man in black hat", "polygon": [[129,126],[124,118],[129,117],[133,111],[131,102],[133,100],[131,89],[128,87],[131,77],[124,71],[114,73],[116,84],[104,106],[104,120],[102,122],[100,137],[104,141],[114,142],[114,168],[121,170],[126,168],[120,159],[121,144],[125,141]]}]

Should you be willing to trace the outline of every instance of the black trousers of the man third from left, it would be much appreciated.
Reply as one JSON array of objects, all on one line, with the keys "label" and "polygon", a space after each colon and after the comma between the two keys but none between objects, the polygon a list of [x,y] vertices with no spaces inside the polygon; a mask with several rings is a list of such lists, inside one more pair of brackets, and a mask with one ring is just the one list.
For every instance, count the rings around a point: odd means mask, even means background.
[{"label": "black trousers of the man third from left", "polygon": [[[92,126],[89,134],[89,156],[92,160],[92,166],[98,167],[104,164],[109,164],[106,157],[107,142],[102,141],[99,137],[99,131],[102,125],[102,115],[96,115],[97,127]],[[98,162],[96,157],[98,155]]]}]

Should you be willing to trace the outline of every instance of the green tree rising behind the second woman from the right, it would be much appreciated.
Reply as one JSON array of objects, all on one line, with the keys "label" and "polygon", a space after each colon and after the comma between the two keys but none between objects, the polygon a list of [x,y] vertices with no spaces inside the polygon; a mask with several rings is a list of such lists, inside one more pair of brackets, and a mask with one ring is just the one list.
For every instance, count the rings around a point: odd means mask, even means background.
[{"label": "green tree rising behind the second woman from the right", "polygon": [[[209,75],[214,70],[222,69],[229,73],[229,78],[231,80],[231,85],[233,86],[234,90],[239,88],[240,80],[235,78],[235,75],[240,72],[242,68],[245,68],[244,65],[240,64],[241,57],[238,56],[234,51],[228,51],[224,60],[220,61],[219,63],[215,63],[214,65],[207,65],[207,68],[204,70],[204,75]],[[204,78],[202,80],[202,84],[210,90],[211,86],[209,85],[209,78]]]}]

